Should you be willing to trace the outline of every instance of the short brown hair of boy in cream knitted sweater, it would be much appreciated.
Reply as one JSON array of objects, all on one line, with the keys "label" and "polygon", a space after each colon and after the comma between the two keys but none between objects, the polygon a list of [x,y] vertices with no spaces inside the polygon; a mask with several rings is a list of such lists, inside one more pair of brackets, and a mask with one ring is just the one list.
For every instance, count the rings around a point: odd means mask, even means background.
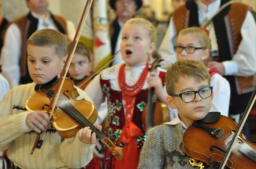
[{"label": "short brown hair of boy in cream knitted sweater", "polygon": [[27,39],[27,46],[29,44],[40,47],[53,47],[60,59],[67,54],[67,39],[61,32],[53,29],[37,30]]}]

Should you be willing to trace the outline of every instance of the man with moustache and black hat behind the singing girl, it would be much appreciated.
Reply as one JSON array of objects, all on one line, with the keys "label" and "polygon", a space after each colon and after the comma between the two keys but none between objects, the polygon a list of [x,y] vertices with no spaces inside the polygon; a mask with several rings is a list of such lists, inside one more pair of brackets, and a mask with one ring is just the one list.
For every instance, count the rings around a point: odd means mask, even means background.
[{"label": "man with moustache and black hat behind the singing girl", "polygon": [[[141,0],[110,0],[111,8],[116,11],[117,17],[110,25],[111,51],[115,54],[120,49],[121,32],[123,25],[134,16],[136,10],[142,6]],[[124,63],[119,53],[115,55],[112,66],[118,63]]]}]

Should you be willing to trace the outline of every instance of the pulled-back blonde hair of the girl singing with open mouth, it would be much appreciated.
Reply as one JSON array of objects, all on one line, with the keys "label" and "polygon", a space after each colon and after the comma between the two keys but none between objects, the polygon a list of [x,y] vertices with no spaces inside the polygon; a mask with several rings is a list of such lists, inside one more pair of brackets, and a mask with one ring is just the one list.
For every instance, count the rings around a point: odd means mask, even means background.
[{"label": "pulled-back blonde hair of the girl singing with open mouth", "polygon": [[148,30],[148,37],[150,38],[151,42],[156,43],[156,28],[151,22],[143,18],[132,18],[125,22],[124,27],[131,24],[139,24],[144,29]]}]

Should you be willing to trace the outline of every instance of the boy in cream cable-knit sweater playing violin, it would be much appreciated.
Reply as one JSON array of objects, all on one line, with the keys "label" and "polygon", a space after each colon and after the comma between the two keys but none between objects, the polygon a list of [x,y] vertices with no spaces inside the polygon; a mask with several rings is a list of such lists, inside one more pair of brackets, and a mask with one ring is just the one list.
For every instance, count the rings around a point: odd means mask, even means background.
[{"label": "boy in cream cable-knit sweater playing violin", "polygon": [[[28,71],[34,82],[12,88],[0,104],[0,151],[8,148],[13,168],[81,168],[92,158],[97,138],[89,127],[80,129],[73,138],[63,139],[48,124],[46,112],[29,112],[25,108],[36,84],[60,76],[66,53],[67,40],[56,30],[38,30],[27,40]],[[77,91],[77,100],[91,101],[82,90],[77,88]],[[40,98],[36,101],[40,102]],[[99,125],[96,128],[101,130]],[[30,155],[41,131],[46,132],[42,147]]]}]

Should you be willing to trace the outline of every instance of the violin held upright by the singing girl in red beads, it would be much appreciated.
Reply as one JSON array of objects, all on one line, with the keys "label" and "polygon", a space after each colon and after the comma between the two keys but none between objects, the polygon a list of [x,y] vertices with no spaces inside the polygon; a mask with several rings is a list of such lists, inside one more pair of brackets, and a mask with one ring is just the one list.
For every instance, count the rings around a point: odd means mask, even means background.
[{"label": "violin held upright by the singing girl in red beads", "polygon": [[[161,59],[156,51],[153,52],[152,56],[156,59],[149,68],[149,72],[152,72],[157,67],[160,67],[161,65],[159,65],[158,63],[163,61],[163,59]],[[142,125],[145,131],[148,131],[153,126],[157,126],[170,121],[169,109],[167,104],[159,102],[157,99],[153,99],[153,94],[153,88],[148,90],[147,105],[142,111]]]}]

